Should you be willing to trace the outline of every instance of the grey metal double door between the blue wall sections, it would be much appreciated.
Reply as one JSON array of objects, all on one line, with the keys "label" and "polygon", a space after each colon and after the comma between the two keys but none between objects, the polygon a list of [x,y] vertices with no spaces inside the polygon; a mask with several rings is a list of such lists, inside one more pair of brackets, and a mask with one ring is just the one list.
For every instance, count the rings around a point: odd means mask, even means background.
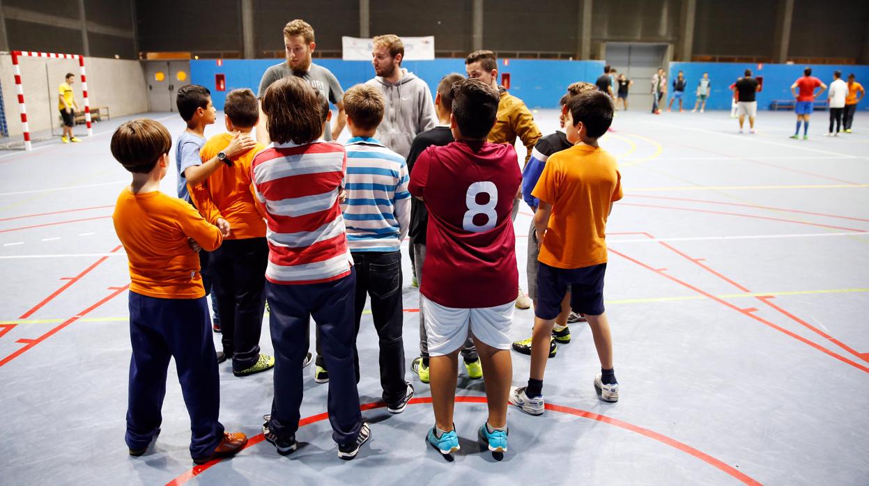
[{"label": "grey metal double door between the blue wall sections", "polygon": [[[607,64],[617,70],[616,75],[624,73],[634,82],[627,96],[632,111],[652,109],[652,76],[658,68],[667,70],[667,49],[667,44],[607,43]],[[667,79],[667,84],[671,82]],[[672,88],[667,86],[668,95],[670,91]]]}]

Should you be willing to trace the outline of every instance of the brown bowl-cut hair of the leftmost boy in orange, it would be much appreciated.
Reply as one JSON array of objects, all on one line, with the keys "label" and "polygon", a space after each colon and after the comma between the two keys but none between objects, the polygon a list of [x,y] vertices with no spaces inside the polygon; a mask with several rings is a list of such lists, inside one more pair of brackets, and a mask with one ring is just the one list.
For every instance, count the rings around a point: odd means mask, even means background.
[{"label": "brown bowl-cut hair of the leftmost boy in orange", "polygon": [[112,156],[123,168],[134,174],[148,174],[161,155],[169,154],[172,135],[156,121],[136,118],[115,130],[110,147]]}]

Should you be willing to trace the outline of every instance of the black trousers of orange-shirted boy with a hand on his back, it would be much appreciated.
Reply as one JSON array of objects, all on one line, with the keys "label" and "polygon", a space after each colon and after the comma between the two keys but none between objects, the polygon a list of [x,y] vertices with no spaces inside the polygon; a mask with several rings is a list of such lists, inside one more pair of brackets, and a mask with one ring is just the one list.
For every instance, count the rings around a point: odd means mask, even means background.
[{"label": "black trousers of orange-shirted boy with a hand on his back", "polygon": [[233,371],[247,370],[260,358],[269,245],[265,238],[223,240],[211,257],[223,352]]}]

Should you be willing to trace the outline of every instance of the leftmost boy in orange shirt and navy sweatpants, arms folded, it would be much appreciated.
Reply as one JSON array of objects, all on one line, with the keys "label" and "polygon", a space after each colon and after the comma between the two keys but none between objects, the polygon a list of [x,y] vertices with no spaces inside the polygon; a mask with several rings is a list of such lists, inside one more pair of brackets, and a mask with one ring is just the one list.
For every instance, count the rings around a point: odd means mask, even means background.
[{"label": "leftmost boy in orange shirt and navy sweatpants, arms folded", "polygon": [[220,246],[218,228],[196,209],[160,192],[172,137],[140,118],[117,128],[111,153],[133,174],[112,220],[129,258],[129,404],[126,442],[142,456],[160,433],[169,358],[175,358],[190,415],[190,456],[197,464],[242,450],[248,437],[217,421],[220,379],[199,257],[192,247]]}]

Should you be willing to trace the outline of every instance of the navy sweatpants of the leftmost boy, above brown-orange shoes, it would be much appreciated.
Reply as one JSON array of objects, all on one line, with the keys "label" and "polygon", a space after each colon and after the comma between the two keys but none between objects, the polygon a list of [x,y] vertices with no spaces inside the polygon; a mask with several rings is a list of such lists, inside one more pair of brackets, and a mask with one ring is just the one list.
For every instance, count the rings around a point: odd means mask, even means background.
[{"label": "navy sweatpants of the leftmost boy, above brown-orange shoes", "polygon": [[222,439],[223,425],[217,421],[220,378],[206,298],[157,299],[129,292],[129,340],[127,446],[148,447],[160,429],[169,358],[175,358],[190,416],[190,456],[209,456]]}]

